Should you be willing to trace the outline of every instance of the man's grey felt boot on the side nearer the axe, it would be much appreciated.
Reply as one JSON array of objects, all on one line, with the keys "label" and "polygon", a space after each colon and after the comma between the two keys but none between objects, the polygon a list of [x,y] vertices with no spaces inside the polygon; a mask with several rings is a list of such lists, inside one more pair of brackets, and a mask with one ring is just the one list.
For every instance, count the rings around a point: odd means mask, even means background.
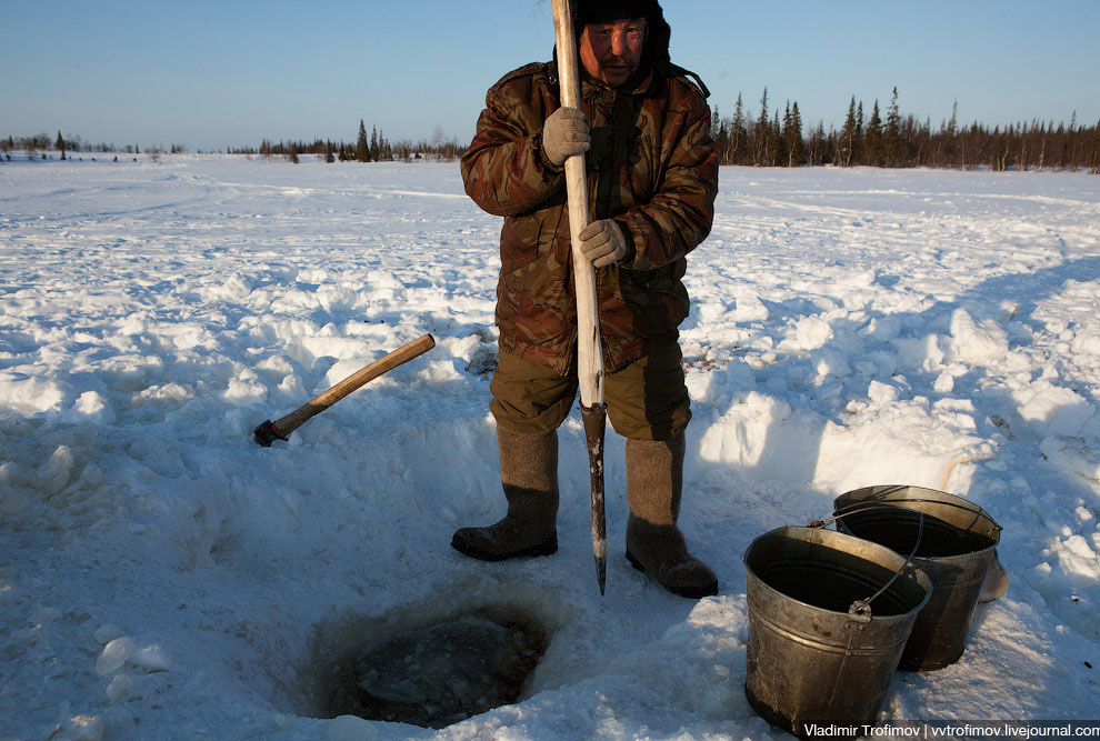
[{"label": "man's grey felt boot on the side nearer the axe", "polygon": [[550,555],[558,550],[558,431],[546,434],[497,428],[500,479],[508,514],[487,528],[454,532],[454,550],[482,561]]}]

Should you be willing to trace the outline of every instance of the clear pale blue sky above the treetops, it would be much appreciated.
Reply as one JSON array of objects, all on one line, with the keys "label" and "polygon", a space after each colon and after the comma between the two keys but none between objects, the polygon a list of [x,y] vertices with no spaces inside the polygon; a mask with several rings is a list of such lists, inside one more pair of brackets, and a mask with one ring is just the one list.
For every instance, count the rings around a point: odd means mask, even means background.
[{"label": "clear pale blue sky above the treetops", "polygon": [[[663,0],[672,58],[732,112],[798,101],[840,126],[902,113],[1100,120],[1100,0]],[[549,0],[0,0],[0,134],[90,142],[468,140],[486,89],[550,57]]]}]

